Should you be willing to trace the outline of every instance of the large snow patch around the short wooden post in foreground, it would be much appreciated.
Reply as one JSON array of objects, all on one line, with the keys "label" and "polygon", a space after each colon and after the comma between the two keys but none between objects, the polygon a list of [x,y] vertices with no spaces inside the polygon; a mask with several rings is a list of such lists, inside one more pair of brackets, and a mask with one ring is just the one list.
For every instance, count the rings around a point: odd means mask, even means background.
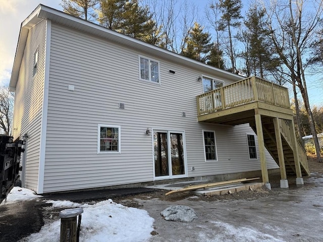
[{"label": "large snow patch around the short wooden post in foreground", "polygon": [[[91,242],[142,242],[146,241],[153,231],[154,219],[147,211],[129,208],[114,203],[111,199],[94,205],[77,204],[70,201],[46,201],[52,207],[81,207],[80,241]],[[28,242],[56,242],[60,241],[60,219],[45,224],[38,233],[33,233],[22,241]]]}]

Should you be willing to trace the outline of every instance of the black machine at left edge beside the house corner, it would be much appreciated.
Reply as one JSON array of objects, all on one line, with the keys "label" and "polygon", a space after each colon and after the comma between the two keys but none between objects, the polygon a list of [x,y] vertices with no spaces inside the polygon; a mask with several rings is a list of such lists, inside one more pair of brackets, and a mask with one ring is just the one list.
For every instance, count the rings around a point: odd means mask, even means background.
[{"label": "black machine at left edge beside the house corner", "polygon": [[13,137],[0,135],[0,204],[19,180],[20,154],[25,150],[23,140],[13,142]]}]

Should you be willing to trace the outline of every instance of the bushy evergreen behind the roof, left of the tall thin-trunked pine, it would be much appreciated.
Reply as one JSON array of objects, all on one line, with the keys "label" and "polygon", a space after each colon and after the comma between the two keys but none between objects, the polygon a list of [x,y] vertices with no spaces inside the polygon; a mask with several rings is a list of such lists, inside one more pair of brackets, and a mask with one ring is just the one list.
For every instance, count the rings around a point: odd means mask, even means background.
[{"label": "bushy evergreen behind the roof, left of the tall thin-trunked pine", "polygon": [[195,22],[194,27],[189,33],[186,48],[182,54],[205,63],[208,58],[208,53],[213,46],[210,40],[210,33],[203,32],[203,27]]}]

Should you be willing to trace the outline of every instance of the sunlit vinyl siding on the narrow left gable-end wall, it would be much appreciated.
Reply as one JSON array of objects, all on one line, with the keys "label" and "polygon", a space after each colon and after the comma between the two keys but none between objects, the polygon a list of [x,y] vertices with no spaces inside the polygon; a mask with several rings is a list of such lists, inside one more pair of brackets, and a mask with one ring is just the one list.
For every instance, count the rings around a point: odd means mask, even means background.
[{"label": "sunlit vinyl siding on the narrow left gable-end wall", "polygon": [[[28,133],[26,154],[25,187],[37,191],[41,113],[44,90],[46,21],[41,21],[29,30],[26,47],[20,66],[13,119],[14,139]],[[34,57],[37,52],[37,75],[34,76]]]}]

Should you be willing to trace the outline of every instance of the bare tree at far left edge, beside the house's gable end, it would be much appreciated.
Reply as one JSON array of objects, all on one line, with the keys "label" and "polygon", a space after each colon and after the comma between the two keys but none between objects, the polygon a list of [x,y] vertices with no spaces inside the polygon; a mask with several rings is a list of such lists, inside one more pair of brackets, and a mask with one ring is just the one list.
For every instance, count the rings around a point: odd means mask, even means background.
[{"label": "bare tree at far left edge, beside the house's gable end", "polygon": [[11,135],[14,93],[8,87],[0,87],[0,129],[6,135]]}]

